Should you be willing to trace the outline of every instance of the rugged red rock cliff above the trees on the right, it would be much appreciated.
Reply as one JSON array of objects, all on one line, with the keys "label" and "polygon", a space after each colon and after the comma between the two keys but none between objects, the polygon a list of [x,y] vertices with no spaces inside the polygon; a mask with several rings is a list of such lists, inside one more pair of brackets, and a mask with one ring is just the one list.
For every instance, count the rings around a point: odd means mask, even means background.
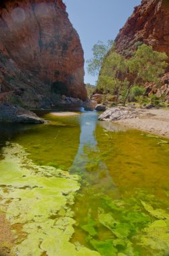
[{"label": "rugged red rock cliff above the trees on the right", "polygon": [[169,57],[169,1],[142,0],[115,42],[117,51],[127,56],[144,42]]}]

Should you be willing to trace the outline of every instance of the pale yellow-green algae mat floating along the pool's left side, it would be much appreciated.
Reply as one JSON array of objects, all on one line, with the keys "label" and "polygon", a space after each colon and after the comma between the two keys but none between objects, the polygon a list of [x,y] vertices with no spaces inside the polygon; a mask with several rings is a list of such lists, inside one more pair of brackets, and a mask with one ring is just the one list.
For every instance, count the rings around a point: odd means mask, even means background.
[{"label": "pale yellow-green algae mat floating along the pool's left side", "polygon": [[22,224],[25,232],[10,255],[100,255],[70,243],[75,223],[70,205],[80,187],[76,175],[34,165],[17,143],[3,148],[0,172],[1,211],[11,224]]}]

